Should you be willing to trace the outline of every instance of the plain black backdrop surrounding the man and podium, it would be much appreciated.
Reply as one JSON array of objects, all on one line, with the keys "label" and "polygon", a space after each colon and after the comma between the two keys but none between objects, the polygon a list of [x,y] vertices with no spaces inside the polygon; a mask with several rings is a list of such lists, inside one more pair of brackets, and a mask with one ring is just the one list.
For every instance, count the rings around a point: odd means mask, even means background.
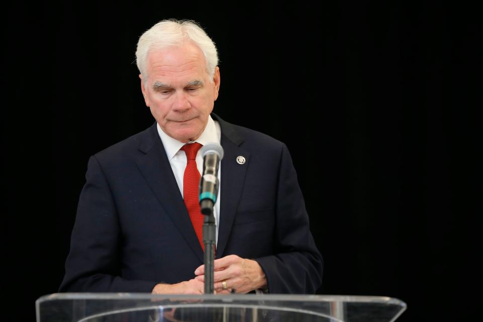
[{"label": "plain black backdrop surrounding the man and podium", "polygon": [[318,294],[396,297],[409,307],[400,321],[475,311],[475,8],[19,1],[4,10],[10,312],[24,307],[34,320],[35,300],[57,291],[89,156],[152,124],[134,52],[165,18],[196,20],[215,41],[214,112],[288,145],[325,259]]}]

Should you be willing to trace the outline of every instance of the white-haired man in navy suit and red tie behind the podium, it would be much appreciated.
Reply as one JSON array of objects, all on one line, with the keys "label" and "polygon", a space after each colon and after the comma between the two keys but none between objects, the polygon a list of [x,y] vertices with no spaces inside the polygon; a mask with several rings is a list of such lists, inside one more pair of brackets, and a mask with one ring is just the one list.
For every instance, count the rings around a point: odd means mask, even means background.
[{"label": "white-haired man in navy suit and red tie behind the podium", "polygon": [[220,88],[211,39],[193,22],[162,21],[136,58],[156,122],[90,158],[60,291],[203,293],[202,215],[187,201],[186,171],[203,163],[189,150],[214,141],[224,149],[215,291],[314,293],[322,259],[288,150],[211,114]]}]

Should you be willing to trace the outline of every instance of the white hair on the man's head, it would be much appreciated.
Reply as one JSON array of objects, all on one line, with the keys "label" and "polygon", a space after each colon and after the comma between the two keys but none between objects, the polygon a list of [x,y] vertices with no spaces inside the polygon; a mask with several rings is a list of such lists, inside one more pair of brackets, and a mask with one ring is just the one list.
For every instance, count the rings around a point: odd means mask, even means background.
[{"label": "white hair on the man's head", "polygon": [[218,65],[218,52],[214,42],[204,30],[192,20],[163,20],[144,32],[137,42],[136,64],[144,81],[147,78],[147,55],[157,49],[183,44],[192,40],[203,52],[206,71],[213,78]]}]

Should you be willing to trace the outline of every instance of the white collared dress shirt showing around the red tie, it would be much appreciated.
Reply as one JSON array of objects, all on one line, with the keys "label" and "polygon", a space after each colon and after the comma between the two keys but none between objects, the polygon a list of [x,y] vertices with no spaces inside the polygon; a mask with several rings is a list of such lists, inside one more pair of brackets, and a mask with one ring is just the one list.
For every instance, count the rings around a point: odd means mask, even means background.
[{"label": "white collared dress shirt showing around the red tie", "polygon": [[[183,196],[183,175],[185,173],[186,168],[186,154],[185,151],[181,151],[180,148],[185,145],[185,143],[180,142],[161,129],[159,124],[157,125],[157,132],[159,133],[159,137],[163,142],[163,145],[166,150],[166,155],[168,156],[168,160],[170,161],[171,169],[173,169],[173,174],[175,175],[176,182],[178,183],[178,187],[180,188],[180,193]],[[203,133],[201,133],[200,137],[194,141],[190,141],[189,143],[198,142],[202,145],[206,145],[209,142],[216,142],[220,143],[221,138],[221,129],[218,122],[214,121],[211,116],[208,116],[208,123],[206,124]],[[203,158],[201,156],[200,151],[196,154],[196,166],[200,174],[203,173]],[[218,197],[216,198],[216,203],[213,207],[213,215],[215,217],[216,223],[216,243],[218,244],[218,223],[220,222],[220,186],[221,186],[221,163],[220,168],[218,169],[218,180],[220,184],[218,185]]]}]

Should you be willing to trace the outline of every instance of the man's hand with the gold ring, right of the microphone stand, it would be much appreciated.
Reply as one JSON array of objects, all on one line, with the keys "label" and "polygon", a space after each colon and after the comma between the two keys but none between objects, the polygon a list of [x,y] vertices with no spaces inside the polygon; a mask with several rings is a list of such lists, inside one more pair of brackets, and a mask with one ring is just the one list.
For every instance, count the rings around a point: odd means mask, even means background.
[{"label": "man's hand with the gold ring, right of the microphone stand", "polygon": [[[213,262],[214,290],[218,294],[230,293],[232,289],[236,293],[248,293],[256,289],[267,288],[267,279],[260,265],[253,260],[229,255]],[[195,280],[204,282],[205,266],[201,265],[195,270]],[[223,283],[227,289],[223,289]]]}]

